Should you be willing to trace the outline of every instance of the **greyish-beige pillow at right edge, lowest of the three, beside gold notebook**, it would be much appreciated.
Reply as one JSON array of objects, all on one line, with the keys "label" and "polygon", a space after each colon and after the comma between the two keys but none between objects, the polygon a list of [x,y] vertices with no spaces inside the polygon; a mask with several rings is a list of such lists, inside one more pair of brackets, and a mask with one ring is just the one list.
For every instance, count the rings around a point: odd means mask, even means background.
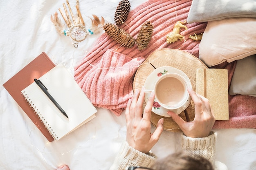
[{"label": "greyish-beige pillow at right edge, lowest of the three, beside gold notebook", "polygon": [[238,60],[229,87],[229,95],[256,97],[256,55]]}]

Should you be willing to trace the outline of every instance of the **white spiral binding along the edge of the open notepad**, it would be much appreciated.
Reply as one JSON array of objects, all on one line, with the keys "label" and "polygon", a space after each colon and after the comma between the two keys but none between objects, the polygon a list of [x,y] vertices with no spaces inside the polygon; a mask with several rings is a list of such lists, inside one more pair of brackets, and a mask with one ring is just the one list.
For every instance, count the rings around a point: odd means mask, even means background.
[{"label": "white spiral binding along the edge of the open notepad", "polygon": [[26,99],[27,103],[30,105],[30,108],[32,108],[34,110],[34,113],[36,113],[37,117],[41,120],[41,122],[45,125],[45,127],[47,128],[47,130],[49,131],[49,133],[52,135],[52,137],[55,140],[58,140],[58,136],[57,134],[54,132],[54,130],[51,128],[51,126],[48,124],[48,122],[45,120],[45,118],[43,117],[43,115],[40,113],[40,111],[36,108],[35,104],[31,101],[31,99],[29,98],[29,96],[27,95],[27,93],[25,91],[21,92],[21,94],[23,95],[23,97]]}]

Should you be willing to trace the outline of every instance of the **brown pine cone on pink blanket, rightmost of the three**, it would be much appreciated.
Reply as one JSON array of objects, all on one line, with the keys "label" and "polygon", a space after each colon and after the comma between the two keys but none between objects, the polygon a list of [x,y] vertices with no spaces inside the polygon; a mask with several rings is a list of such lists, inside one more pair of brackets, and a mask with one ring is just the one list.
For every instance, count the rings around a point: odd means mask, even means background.
[{"label": "brown pine cone on pink blanket, rightmost of the three", "polygon": [[136,44],[139,50],[143,50],[147,48],[150,42],[152,33],[153,33],[153,25],[150,23],[150,21],[147,21],[143,25],[141,25],[141,29],[139,30],[139,34],[136,39]]}]

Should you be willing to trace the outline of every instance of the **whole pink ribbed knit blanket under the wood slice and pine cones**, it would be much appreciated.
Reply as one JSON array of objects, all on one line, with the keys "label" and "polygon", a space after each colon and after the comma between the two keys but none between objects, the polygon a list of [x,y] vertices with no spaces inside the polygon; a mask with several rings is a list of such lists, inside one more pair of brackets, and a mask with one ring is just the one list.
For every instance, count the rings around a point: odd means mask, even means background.
[{"label": "whole pink ribbed knit blanket under the wood slice and pine cones", "polygon": [[[74,78],[92,104],[112,110],[120,115],[132,98],[132,82],[137,66],[153,51],[162,48],[180,49],[198,57],[199,43],[189,39],[189,35],[203,33],[207,22],[186,24],[188,30],[181,34],[185,40],[166,43],[166,35],[173,30],[177,21],[187,19],[192,0],[148,0],[130,11],[126,24],[121,28],[137,38],[141,25],[150,21],[153,35],[148,48],[142,51],[133,46],[120,47],[112,38],[103,33],[89,53],[75,66]],[[114,17],[114,14],[113,14]],[[184,63],[186,64],[186,63]],[[214,68],[226,68],[229,86],[236,62],[223,63]],[[213,128],[255,128],[256,97],[229,96],[229,120],[216,121]]]}]

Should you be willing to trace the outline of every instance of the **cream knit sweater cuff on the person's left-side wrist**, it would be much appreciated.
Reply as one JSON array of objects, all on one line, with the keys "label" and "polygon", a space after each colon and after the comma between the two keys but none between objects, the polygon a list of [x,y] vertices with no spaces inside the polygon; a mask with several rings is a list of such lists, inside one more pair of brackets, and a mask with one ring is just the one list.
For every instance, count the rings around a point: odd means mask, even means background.
[{"label": "cream knit sweater cuff on the person's left-side wrist", "polygon": [[153,153],[144,154],[123,142],[118,155],[110,170],[126,170],[128,166],[150,167],[155,163],[156,156]]}]

